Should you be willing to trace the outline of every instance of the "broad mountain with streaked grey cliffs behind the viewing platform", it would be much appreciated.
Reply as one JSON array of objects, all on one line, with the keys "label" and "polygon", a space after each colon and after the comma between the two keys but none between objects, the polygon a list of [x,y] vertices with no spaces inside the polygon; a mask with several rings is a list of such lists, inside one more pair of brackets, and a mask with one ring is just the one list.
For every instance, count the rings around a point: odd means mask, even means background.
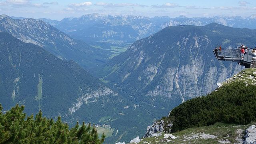
[{"label": "broad mountain with streaked grey cliffs behind the viewing platform", "polygon": [[140,104],[162,115],[190,98],[207,94],[242,67],[219,62],[212,53],[217,44],[231,48],[253,46],[255,30],[209,24],[172,26],[138,40],[103,68],[101,77],[134,95]]}]

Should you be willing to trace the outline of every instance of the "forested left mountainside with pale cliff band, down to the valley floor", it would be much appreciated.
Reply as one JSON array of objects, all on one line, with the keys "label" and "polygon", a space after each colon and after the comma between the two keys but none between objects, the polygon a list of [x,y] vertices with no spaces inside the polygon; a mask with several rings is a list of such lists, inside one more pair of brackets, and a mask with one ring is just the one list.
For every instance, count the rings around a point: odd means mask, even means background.
[{"label": "forested left mountainside with pale cliff band, down to the valley floor", "polygon": [[[3,111],[24,104],[26,114],[107,124],[114,129],[106,143],[143,134],[155,117],[94,78],[74,61],[61,60],[31,43],[0,32],[0,103]],[[150,120],[150,121],[148,121]]]}]

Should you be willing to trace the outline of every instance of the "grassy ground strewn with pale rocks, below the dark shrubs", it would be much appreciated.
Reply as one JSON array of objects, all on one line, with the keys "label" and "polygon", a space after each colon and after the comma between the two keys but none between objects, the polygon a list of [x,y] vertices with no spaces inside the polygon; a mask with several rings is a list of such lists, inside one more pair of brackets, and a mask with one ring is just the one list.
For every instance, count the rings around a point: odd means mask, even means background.
[{"label": "grassy ground strewn with pale rocks, below the dark shrubs", "polygon": [[[144,138],[139,144],[220,144],[219,140],[229,140],[232,144],[238,142],[238,139],[242,140],[244,136],[244,130],[248,128],[248,125],[236,125],[236,124],[224,124],[217,122],[211,126],[203,126],[198,128],[188,128],[186,130],[173,133],[176,139],[164,139],[164,133],[162,136],[153,138]],[[217,138],[204,139],[200,137],[200,134],[210,134],[217,136]],[[199,136],[199,137],[197,137]],[[167,142],[167,140],[171,140]]]}]

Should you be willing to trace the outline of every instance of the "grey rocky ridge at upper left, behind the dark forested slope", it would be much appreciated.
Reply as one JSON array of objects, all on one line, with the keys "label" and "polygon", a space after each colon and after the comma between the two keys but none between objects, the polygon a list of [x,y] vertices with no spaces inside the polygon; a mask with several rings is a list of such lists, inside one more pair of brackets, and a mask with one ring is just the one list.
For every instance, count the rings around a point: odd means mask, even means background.
[{"label": "grey rocky ridge at upper left, behind the dark forested slope", "polygon": [[0,15],[0,32],[8,32],[23,42],[36,44],[58,58],[74,60],[86,69],[101,66],[112,55],[109,51],[93,48],[85,42],[74,40],[42,20],[12,19],[6,15]]}]

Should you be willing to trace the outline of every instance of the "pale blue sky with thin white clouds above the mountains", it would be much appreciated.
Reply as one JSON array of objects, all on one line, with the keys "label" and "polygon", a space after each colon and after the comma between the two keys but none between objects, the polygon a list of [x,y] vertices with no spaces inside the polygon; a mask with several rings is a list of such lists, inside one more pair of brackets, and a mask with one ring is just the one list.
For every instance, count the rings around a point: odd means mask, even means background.
[{"label": "pale blue sky with thin white clouds above the mountains", "polygon": [[0,0],[0,14],[62,20],[84,14],[170,16],[252,16],[256,0]]}]

